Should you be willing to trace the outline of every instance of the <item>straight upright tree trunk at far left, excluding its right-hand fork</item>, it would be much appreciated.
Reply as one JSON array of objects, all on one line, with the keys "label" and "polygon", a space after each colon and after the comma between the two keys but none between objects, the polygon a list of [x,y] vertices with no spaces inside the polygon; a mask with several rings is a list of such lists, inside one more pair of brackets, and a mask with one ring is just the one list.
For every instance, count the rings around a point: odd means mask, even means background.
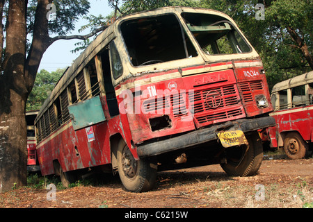
[{"label": "straight upright tree trunk at far left, excluding its right-hand fork", "polygon": [[27,184],[25,107],[26,0],[10,1],[0,74],[0,192]]}]

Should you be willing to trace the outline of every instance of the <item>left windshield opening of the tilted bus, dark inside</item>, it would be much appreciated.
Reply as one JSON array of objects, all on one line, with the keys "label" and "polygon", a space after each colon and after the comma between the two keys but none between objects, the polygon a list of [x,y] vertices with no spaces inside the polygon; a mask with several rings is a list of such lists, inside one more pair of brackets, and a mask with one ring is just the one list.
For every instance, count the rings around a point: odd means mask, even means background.
[{"label": "left windshield opening of the tilted bus, dark inside", "polygon": [[131,19],[120,31],[134,67],[198,56],[174,14]]}]

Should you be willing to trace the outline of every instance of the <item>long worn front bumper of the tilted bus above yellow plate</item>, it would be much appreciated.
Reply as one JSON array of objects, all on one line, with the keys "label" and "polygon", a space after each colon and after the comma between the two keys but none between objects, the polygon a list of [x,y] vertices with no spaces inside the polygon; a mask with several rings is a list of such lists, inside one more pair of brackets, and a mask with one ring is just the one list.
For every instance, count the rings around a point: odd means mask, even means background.
[{"label": "long worn front bumper of the tilted bus above yellow plate", "polygon": [[257,119],[239,119],[236,121],[227,121],[225,123],[210,126],[201,130],[191,131],[184,135],[179,135],[170,139],[164,139],[158,142],[150,142],[137,146],[138,157],[150,157],[175,151],[182,148],[188,148],[205,142],[218,139],[217,133],[220,130],[241,129],[243,133],[255,132],[256,130],[275,126],[273,117],[260,117]]}]

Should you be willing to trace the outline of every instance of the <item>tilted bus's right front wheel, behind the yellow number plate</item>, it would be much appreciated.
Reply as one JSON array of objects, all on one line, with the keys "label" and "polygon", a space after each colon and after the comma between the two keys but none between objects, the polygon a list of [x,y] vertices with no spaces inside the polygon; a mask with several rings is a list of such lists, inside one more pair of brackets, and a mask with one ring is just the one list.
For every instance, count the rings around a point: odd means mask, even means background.
[{"label": "tilted bus's right front wheel, behind the yellow number plate", "polygon": [[220,167],[229,176],[252,176],[261,167],[263,159],[262,141],[257,133],[246,135],[248,145],[226,149],[226,162]]}]

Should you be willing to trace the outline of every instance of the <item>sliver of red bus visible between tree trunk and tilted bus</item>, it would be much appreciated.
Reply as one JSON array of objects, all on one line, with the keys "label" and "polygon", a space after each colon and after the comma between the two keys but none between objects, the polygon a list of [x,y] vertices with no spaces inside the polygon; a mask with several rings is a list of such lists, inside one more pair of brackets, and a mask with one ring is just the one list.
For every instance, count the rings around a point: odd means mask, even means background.
[{"label": "sliver of red bus visible between tree trunk and tilted bus", "polygon": [[35,118],[38,110],[26,112],[27,123],[27,171],[40,171],[36,152]]}]

